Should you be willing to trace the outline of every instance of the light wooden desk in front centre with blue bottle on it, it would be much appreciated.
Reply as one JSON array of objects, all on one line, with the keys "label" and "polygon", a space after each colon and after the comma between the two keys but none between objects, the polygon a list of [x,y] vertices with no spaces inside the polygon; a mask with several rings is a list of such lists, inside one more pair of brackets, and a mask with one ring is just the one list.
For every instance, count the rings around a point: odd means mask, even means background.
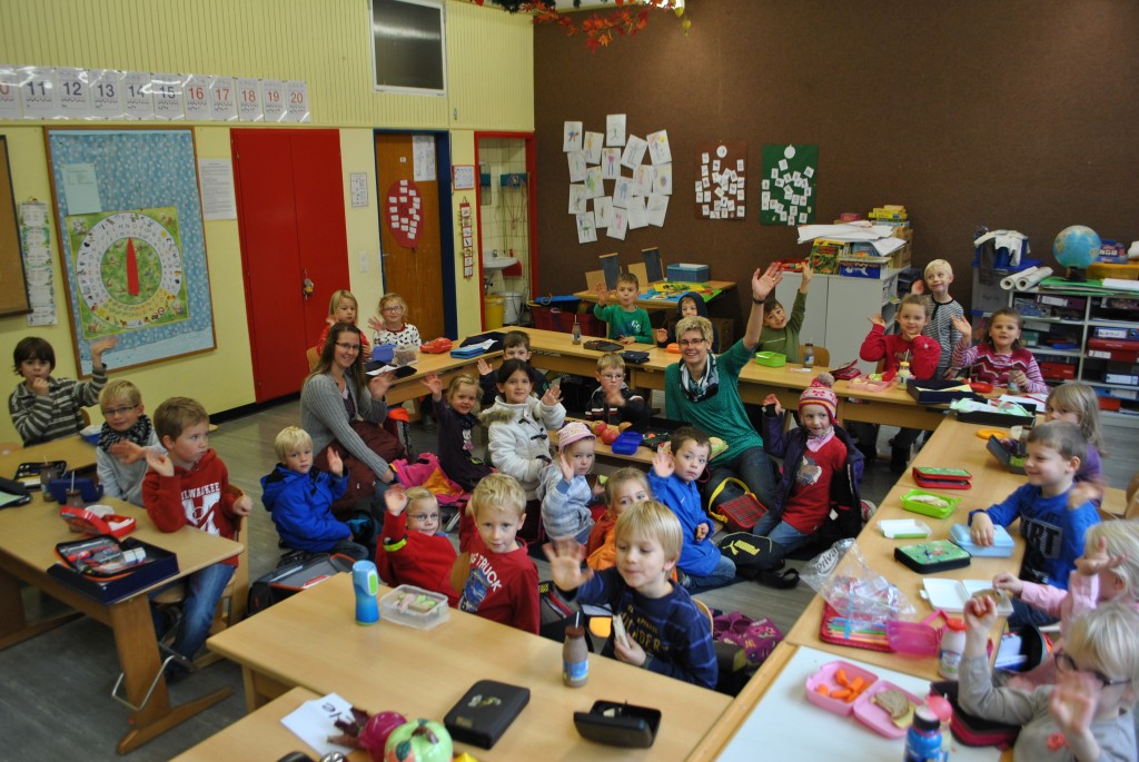
[{"label": "light wooden desk in front centre with blue bottle on it", "polygon": [[[442,718],[476,680],[530,688],[530,704],[494,748],[469,749],[483,762],[680,760],[729,704],[721,694],[599,655],[590,656],[589,683],[566,688],[562,644],[460,611],[423,632],[387,621],[359,626],[353,611],[352,580],[338,574],[214,636],[210,648],[241,665],[251,711],[301,686],[318,695],[335,691],[372,712]],[[581,738],[573,712],[601,698],[659,708],[653,748]]]}]

